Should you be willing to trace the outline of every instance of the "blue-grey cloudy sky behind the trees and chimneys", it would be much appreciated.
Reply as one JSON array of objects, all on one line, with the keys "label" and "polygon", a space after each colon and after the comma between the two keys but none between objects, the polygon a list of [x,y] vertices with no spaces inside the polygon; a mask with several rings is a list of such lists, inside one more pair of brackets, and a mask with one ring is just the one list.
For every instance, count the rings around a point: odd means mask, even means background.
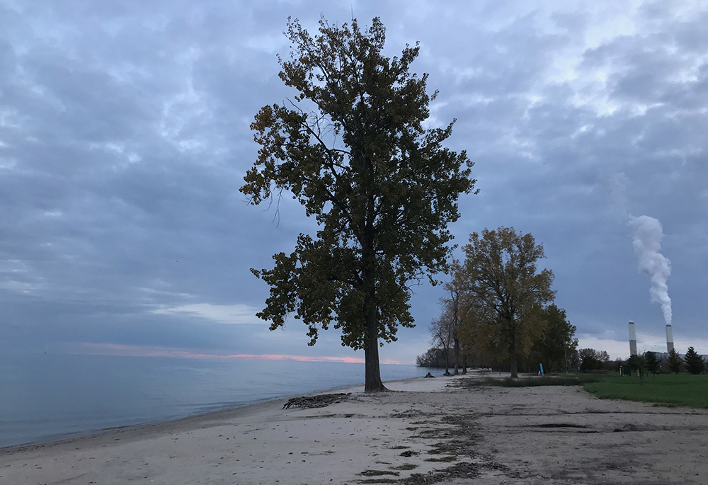
[{"label": "blue-grey cloudy sky behind the trees and chimneys", "polygon": [[[249,268],[314,224],[238,191],[253,115],[294,94],[287,16],[320,15],[379,16],[391,56],[421,42],[428,126],[457,118],[481,189],[458,244],[531,232],[581,346],[624,356],[629,320],[666,348],[629,223],[656,218],[676,346],[708,353],[708,6],[680,0],[0,0],[0,350],[363,357],[258,322]],[[415,292],[384,361],[428,348],[442,292]]]}]

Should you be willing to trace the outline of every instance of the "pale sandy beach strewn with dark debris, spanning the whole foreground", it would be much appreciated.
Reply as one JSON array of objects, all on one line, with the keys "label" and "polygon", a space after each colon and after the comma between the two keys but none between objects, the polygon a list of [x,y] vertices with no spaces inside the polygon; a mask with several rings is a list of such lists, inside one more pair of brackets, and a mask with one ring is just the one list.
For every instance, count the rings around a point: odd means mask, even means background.
[{"label": "pale sandy beach strewn with dark debris, spanning the whole foreground", "polygon": [[[580,387],[387,383],[0,450],[0,484],[706,484],[708,412]],[[324,394],[324,393],[319,393]]]}]

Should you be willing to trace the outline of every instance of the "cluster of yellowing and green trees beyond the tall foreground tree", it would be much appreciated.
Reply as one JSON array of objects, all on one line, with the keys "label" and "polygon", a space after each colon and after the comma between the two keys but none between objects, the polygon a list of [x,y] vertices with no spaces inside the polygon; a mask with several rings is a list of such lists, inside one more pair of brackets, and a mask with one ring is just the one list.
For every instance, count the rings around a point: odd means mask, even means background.
[{"label": "cluster of yellowing and green trees beyond the tall foreground tree", "polygon": [[567,370],[577,360],[576,327],[554,304],[553,272],[539,269],[542,244],[513,227],[469,236],[464,261],[452,261],[440,315],[430,323],[433,348],[418,365]]}]

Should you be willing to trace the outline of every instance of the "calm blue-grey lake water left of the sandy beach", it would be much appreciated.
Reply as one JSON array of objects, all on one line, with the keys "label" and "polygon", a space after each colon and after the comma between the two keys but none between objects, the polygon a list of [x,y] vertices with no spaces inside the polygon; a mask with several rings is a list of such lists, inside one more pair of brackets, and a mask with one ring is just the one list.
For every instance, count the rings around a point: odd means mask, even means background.
[{"label": "calm blue-grey lake water left of the sandy beach", "polygon": [[[382,365],[385,380],[426,375]],[[0,357],[0,447],[362,384],[363,364],[105,355]]]}]

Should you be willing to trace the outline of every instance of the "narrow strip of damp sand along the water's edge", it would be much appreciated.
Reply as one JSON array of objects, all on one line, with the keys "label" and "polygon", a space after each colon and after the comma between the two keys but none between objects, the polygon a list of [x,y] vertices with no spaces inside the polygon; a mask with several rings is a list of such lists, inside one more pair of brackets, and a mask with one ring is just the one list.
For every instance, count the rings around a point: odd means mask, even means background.
[{"label": "narrow strip of damp sand along the water's edge", "polygon": [[[435,378],[449,378],[449,377],[454,377],[454,376],[435,376]],[[395,383],[395,382],[409,382],[411,380],[418,380],[421,379],[422,377],[406,377],[405,379],[397,379],[397,380],[390,380],[390,381],[385,381],[385,384],[390,384],[390,383]],[[86,431],[77,431],[76,433],[61,433],[59,435],[56,435],[55,437],[47,437],[50,439],[47,440],[40,440],[40,441],[32,441],[28,443],[21,443],[18,445],[8,445],[4,447],[0,447],[0,455],[6,453],[6,452],[12,452],[13,450],[25,450],[25,449],[33,449],[33,448],[39,448],[39,447],[47,447],[55,444],[60,444],[60,443],[71,443],[75,440],[81,440],[84,438],[92,438],[92,437],[98,437],[100,435],[108,435],[110,433],[122,433],[124,431],[129,431],[129,430],[139,430],[142,428],[151,428],[154,426],[161,426],[161,425],[169,425],[169,423],[179,423],[181,421],[190,421],[193,419],[199,419],[199,418],[207,418],[212,415],[218,415],[220,413],[229,413],[231,411],[236,411],[239,409],[246,409],[249,408],[250,406],[260,406],[262,404],[267,404],[267,403],[275,403],[276,401],[282,401],[283,404],[287,402],[288,399],[295,397],[295,396],[314,396],[316,394],[329,394],[331,392],[341,392],[345,389],[359,389],[360,392],[363,392],[364,389],[364,384],[356,384],[353,386],[339,386],[339,387],[331,387],[328,389],[319,389],[316,391],[311,391],[311,392],[306,392],[302,394],[287,394],[285,396],[279,396],[279,397],[273,397],[273,398],[268,398],[268,399],[263,399],[262,401],[254,401],[250,402],[249,404],[241,404],[239,406],[233,406],[233,407],[227,407],[224,409],[215,409],[213,411],[206,411],[204,413],[196,413],[196,414],[188,414],[186,416],[178,416],[176,418],[168,418],[168,419],[159,419],[156,421],[146,421],[144,423],[137,423],[137,424],[128,424],[125,426],[110,426],[108,428],[98,428],[98,429],[93,429],[93,430],[86,430]]]}]

